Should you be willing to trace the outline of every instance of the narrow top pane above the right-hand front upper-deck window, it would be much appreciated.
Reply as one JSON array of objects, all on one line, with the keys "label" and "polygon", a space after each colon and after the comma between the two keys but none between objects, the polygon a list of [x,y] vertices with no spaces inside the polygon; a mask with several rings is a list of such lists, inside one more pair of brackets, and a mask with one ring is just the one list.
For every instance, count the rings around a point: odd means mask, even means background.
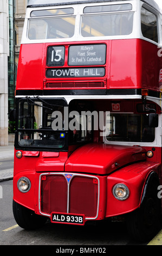
[{"label": "narrow top pane above the right-hand front upper-deck window", "polygon": [[132,4],[112,4],[85,7],[83,13],[107,13],[108,11],[132,10]]}]

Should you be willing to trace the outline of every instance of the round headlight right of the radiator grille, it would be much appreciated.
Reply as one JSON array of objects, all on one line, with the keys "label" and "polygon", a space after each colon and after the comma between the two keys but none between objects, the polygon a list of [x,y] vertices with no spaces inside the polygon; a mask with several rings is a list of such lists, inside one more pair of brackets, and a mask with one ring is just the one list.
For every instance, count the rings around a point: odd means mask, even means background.
[{"label": "round headlight right of the radiator grille", "polygon": [[113,187],[113,195],[118,200],[125,200],[129,196],[128,187],[124,184],[116,184]]}]

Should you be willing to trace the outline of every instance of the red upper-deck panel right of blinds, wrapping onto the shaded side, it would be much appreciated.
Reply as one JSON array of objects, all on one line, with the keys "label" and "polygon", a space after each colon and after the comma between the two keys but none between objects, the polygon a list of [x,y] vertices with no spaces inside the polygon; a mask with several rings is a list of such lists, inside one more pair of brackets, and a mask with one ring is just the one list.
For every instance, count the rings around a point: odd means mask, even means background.
[{"label": "red upper-deck panel right of blinds, wrapping onto the shaded side", "polygon": [[110,89],[159,90],[162,62],[158,50],[141,39],[112,40]]}]

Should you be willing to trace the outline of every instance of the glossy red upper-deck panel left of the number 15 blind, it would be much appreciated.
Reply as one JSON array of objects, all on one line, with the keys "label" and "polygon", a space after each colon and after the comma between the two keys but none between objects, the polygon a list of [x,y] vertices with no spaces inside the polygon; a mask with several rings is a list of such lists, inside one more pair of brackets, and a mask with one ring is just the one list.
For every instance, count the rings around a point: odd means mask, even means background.
[{"label": "glossy red upper-deck panel left of the number 15 blind", "polygon": [[17,70],[17,90],[43,89],[43,44],[21,45]]}]

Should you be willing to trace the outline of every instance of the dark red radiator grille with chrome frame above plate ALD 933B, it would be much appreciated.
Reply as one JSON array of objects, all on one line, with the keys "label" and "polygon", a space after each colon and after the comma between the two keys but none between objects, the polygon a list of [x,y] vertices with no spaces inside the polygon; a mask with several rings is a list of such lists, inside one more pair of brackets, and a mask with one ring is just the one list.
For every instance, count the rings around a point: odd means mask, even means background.
[{"label": "dark red radiator grille with chrome frame above plate ALD 933B", "polygon": [[85,214],[95,218],[99,205],[99,180],[79,174],[49,174],[41,178],[41,212]]}]

